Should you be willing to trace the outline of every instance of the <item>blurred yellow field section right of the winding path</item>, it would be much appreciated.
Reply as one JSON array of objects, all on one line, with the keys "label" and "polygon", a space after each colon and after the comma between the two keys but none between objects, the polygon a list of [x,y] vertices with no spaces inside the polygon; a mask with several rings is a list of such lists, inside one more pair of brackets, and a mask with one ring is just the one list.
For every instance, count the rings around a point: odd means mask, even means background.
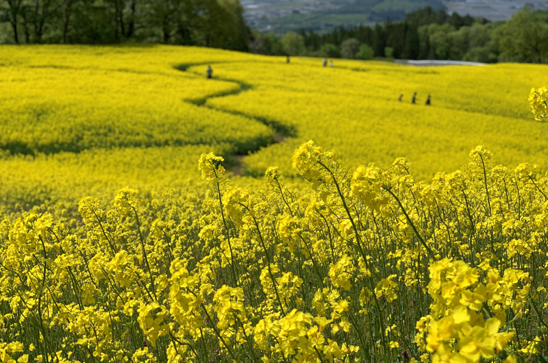
[{"label": "blurred yellow field section right of the winding path", "polygon": [[[335,64],[322,68],[317,60],[312,64],[295,60],[276,66],[222,65],[223,75],[256,88],[210,99],[208,104],[294,130],[295,137],[284,145],[247,158],[249,173],[260,175],[272,164],[288,173],[292,150],[310,139],[336,148],[351,166],[388,165],[405,156],[421,179],[460,168],[467,152],[477,145],[493,150],[503,164],[527,160],[544,169],[548,166],[547,125],[532,120],[525,101],[532,86],[548,82],[546,66]],[[412,105],[414,92],[417,103]],[[432,105],[425,106],[428,95]]]}]

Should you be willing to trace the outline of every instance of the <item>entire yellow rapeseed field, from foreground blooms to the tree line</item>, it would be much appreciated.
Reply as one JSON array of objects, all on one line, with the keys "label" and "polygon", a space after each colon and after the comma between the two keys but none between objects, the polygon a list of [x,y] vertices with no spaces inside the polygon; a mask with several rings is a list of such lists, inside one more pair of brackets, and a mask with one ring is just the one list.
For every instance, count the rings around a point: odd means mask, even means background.
[{"label": "entire yellow rapeseed field, from foreground blooms to the tree line", "polygon": [[0,361],[548,360],[545,68],[318,63],[0,47]]}]

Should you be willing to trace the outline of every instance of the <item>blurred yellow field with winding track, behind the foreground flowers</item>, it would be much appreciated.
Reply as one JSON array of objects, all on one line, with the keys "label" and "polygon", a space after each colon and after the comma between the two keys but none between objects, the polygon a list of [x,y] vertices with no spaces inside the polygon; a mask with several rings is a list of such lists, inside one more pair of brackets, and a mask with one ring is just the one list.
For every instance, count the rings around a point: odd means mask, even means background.
[{"label": "blurred yellow field with winding track, behind the foreground flowers", "polygon": [[404,156],[424,180],[460,168],[477,145],[495,162],[548,169],[547,125],[527,105],[530,89],[548,83],[546,66],[337,60],[323,68],[312,58],[286,64],[164,46],[4,46],[0,54],[0,200],[10,205],[180,187],[197,179],[206,151],[244,177],[268,166],[293,175],[291,155],[310,139],[347,166]]}]

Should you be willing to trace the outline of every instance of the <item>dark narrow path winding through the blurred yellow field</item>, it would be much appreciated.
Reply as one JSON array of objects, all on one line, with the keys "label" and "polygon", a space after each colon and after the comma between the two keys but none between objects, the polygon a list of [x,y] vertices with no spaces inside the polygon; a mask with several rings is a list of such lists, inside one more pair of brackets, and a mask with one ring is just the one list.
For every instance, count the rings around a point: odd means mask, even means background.
[{"label": "dark narrow path winding through the blurred yellow field", "polygon": [[[220,62],[222,64],[225,64],[226,62]],[[194,67],[194,66],[206,66],[208,64],[214,64],[214,62],[208,62],[208,63],[195,63],[195,64],[180,64],[178,66],[175,66],[173,68],[177,69],[178,71],[187,72],[188,68]],[[219,64],[219,63],[217,63]],[[199,75],[198,73],[192,72],[194,75]],[[205,79],[205,78],[204,78]],[[213,81],[219,80],[224,82],[231,82],[238,85],[238,88],[236,90],[229,90],[224,92],[216,92],[212,95],[201,97],[199,99],[186,99],[185,101],[188,103],[192,103],[193,105],[197,105],[199,107],[208,108],[210,110],[216,110],[218,112],[223,112],[225,114],[234,114],[237,116],[241,116],[244,118],[249,118],[251,121],[257,121],[260,122],[270,129],[273,130],[273,137],[266,145],[257,145],[257,147],[247,150],[246,153],[236,153],[236,154],[229,154],[229,155],[223,155],[225,158],[225,162],[227,163],[227,171],[233,173],[234,175],[245,175],[245,166],[243,163],[243,160],[248,155],[251,155],[252,153],[256,153],[259,151],[262,147],[269,147],[270,145],[279,144],[281,142],[284,142],[286,138],[295,136],[295,129],[292,127],[287,127],[286,125],[283,125],[282,123],[279,123],[278,121],[275,121],[271,118],[264,118],[259,116],[253,116],[249,114],[245,114],[244,112],[234,111],[234,110],[224,110],[223,108],[216,108],[213,105],[208,104],[209,99],[214,99],[217,97],[225,97],[225,96],[233,96],[233,95],[239,95],[242,92],[246,92],[248,90],[253,90],[253,86],[251,84],[248,84],[246,82],[242,82],[238,79],[229,79],[224,77],[218,77],[214,76],[212,78]]]}]

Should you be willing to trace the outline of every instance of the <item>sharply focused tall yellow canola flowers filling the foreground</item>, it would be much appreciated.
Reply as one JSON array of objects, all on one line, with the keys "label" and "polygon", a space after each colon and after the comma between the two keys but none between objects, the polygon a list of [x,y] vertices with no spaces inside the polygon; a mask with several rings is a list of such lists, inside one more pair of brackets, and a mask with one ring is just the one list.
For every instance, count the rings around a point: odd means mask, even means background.
[{"label": "sharply focused tall yellow canola flowers filling the foreground", "polygon": [[406,160],[345,169],[306,142],[297,195],[124,188],[82,222],[0,224],[5,362],[525,362],[548,353],[548,178],[469,164],[415,182]]}]

